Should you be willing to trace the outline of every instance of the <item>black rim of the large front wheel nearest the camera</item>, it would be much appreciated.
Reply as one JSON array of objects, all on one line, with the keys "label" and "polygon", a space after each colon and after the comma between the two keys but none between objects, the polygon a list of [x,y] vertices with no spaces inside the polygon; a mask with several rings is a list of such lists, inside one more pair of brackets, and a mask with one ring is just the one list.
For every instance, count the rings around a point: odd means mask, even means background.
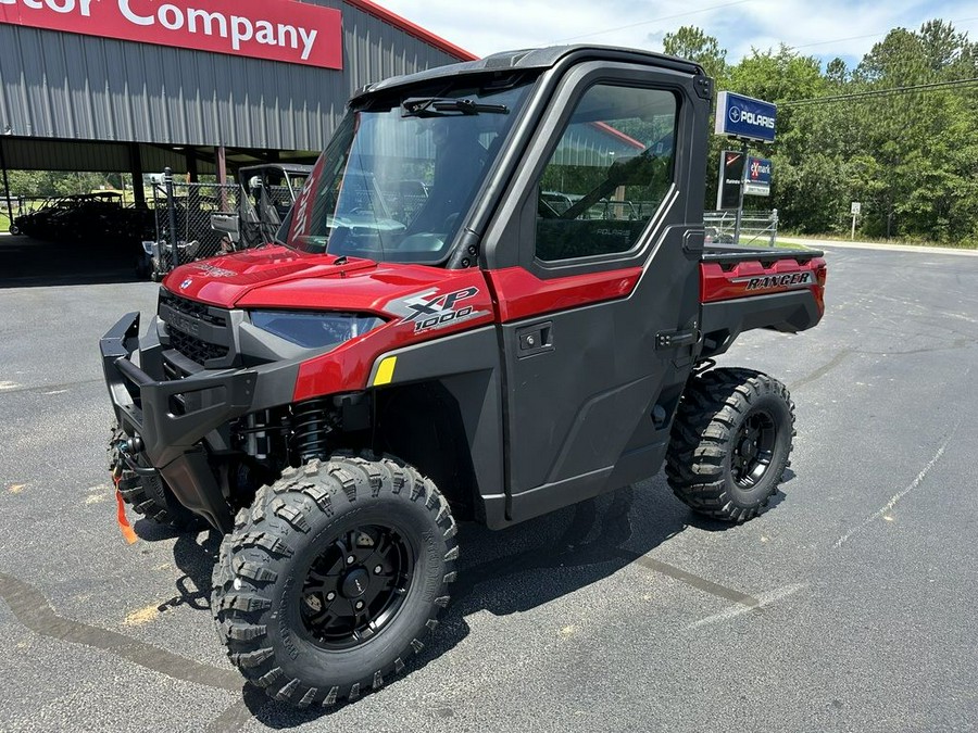
[{"label": "black rim of the large front wheel nearest the camera", "polygon": [[414,574],[411,544],[390,527],[343,532],[312,563],[299,598],[314,644],[350,649],[380,633],[397,616]]}]

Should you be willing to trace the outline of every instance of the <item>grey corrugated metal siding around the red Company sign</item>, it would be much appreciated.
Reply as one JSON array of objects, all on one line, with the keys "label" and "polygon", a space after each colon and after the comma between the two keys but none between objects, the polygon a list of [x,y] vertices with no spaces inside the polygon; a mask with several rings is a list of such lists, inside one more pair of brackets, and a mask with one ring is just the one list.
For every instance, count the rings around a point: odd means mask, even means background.
[{"label": "grey corrugated metal siding around the red Company sign", "polygon": [[339,1],[343,71],[0,25],[0,131],[321,150],[356,89],[457,61]]}]

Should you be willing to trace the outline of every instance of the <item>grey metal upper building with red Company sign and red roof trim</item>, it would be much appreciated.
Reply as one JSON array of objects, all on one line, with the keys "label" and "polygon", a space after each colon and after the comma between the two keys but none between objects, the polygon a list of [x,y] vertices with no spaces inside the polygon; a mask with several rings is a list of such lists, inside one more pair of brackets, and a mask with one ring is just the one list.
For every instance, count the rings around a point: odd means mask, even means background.
[{"label": "grey metal upper building with red Company sign and red roof trim", "polygon": [[[0,3],[0,173],[143,174],[220,184],[305,163],[353,91],[472,54],[369,0]],[[274,42],[273,42],[274,41]]]}]

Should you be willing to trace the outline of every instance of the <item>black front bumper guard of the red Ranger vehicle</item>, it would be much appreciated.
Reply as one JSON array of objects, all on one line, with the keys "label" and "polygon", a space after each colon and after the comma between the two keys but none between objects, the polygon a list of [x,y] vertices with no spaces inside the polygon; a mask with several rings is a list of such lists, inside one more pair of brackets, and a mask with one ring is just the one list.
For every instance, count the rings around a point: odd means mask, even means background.
[{"label": "black front bumper guard of the red Ranger vehicle", "polygon": [[201,441],[253,412],[258,372],[208,369],[185,379],[156,381],[131,361],[139,347],[138,313],[124,316],[99,345],[118,425],[141,441],[142,455],[184,506],[228,532],[230,509]]}]

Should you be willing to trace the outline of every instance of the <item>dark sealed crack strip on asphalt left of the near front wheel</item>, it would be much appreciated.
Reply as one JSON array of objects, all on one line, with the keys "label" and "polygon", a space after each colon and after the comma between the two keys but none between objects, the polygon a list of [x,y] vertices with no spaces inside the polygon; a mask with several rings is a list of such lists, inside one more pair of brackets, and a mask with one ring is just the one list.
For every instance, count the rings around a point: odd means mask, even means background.
[{"label": "dark sealed crack strip on asphalt left of the near front wheel", "polygon": [[2,572],[0,597],[17,621],[39,636],[101,649],[174,680],[236,693],[243,686],[243,680],[233,670],[202,665],[131,636],[59,616],[40,591]]}]

